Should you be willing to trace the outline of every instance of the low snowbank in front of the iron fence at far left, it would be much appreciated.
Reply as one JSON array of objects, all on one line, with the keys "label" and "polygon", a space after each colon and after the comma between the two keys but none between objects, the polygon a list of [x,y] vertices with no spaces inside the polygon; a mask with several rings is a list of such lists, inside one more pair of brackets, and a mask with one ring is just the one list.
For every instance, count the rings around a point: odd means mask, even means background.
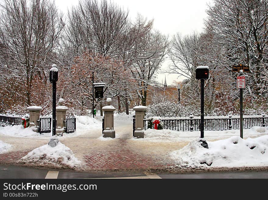
[{"label": "low snowbank in front of the iron fence at far left", "polygon": [[34,126],[24,128],[22,125],[0,127],[0,134],[11,137],[48,137],[51,133],[41,134],[33,131]]}]

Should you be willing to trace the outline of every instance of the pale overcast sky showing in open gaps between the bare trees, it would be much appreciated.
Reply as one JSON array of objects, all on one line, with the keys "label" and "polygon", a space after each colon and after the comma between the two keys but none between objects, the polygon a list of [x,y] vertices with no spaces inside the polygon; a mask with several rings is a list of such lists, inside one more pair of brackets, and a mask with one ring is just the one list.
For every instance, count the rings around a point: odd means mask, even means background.
[{"label": "pale overcast sky showing in open gaps between the bare trees", "polygon": [[[112,0],[111,0],[112,1]],[[147,19],[154,19],[154,28],[170,37],[179,32],[182,35],[191,34],[193,31],[202,32],[203,19],[206,18],[207,4],[212,0],[114,0],[115,3],[129,10],[129,16],[135,20],[139,12]],[[67,8],[77,5],[78,0],[55,0],[62,12]],[[168,61],[163,63],[167,67]],[[171,85],[177,75],[168,75],[167,83]],[[158,74],[157,80],[164,81],[164,75]]]}]

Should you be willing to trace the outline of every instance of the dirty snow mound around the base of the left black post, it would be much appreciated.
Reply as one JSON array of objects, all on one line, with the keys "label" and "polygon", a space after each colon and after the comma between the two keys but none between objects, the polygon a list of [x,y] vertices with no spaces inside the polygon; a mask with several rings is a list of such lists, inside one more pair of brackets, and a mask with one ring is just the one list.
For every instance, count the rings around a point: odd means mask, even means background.
[{"label": "dirty snow mound around the base of the left black post", "polygon": [[[57,136],[51,137],[51,139],[56,138]],[[47,144],[33,149],[33,151],[22,157],[20,161],[29,163],[38,162],[40,164],[60,164],[70,167],[76,167],[81,163],[81,161],[74,156],[72,150],[61,142],[58,142],[55,147],[51,147]]]}]

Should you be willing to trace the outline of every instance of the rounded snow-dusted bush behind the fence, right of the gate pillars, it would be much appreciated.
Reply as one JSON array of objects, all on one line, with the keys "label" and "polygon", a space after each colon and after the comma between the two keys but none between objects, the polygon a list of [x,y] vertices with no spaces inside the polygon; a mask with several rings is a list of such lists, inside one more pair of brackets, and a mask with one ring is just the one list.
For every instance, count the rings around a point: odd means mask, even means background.
[{"label": "rounded snow-dusted bush behind the fence, right of the gate pillars", "polygon": [[159,117],[188,117],[192,112],[195,116],[199,116],[200,109],[194,106],[183,106],[182,104],[165,101],[147,106],[147,116]]}]

